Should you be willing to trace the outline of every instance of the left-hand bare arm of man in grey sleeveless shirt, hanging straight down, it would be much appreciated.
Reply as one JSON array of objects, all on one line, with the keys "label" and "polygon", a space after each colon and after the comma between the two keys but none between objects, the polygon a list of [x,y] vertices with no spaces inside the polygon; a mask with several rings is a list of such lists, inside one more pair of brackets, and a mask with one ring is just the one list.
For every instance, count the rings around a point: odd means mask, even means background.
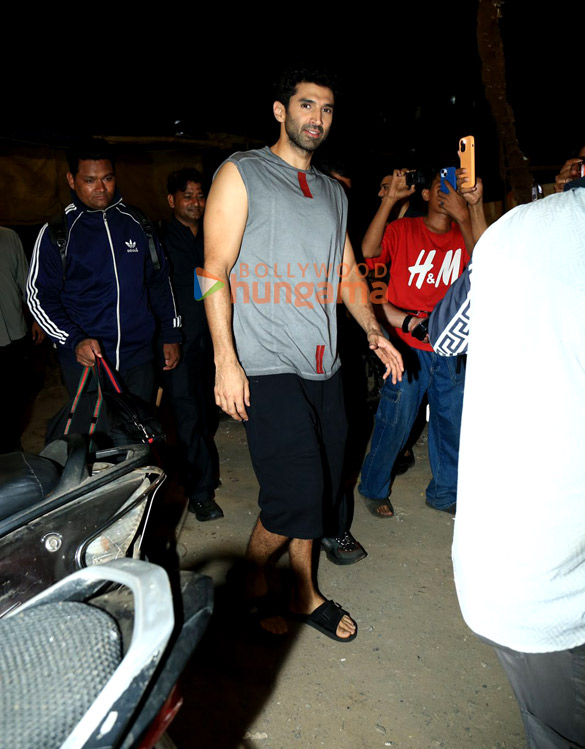
[{"label": "left-hand bare arm of man in grey sleeveless shirt, hanging straight down", "polygon": [[205,209],[205,270],[224,284],[205,299],[205,312],[215,357],[215,402],[236,421],[248,418],[250,389],[236,354],[229,274],[240,252],[247,217],[246,188],[235,164],[228,162],[211,186]]}]

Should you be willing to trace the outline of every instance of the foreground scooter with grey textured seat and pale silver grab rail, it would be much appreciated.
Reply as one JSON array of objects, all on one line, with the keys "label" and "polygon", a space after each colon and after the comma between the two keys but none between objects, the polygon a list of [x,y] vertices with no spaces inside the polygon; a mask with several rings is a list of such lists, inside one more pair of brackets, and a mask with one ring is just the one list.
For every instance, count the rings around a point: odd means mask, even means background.
[{"label": "foreground scooter with grey textured seat and pale silver grab rail", "polygon": [[[161,567],[119,559],[79,570],[5,616],[2,745],[147,749],[161,740],[212,611],[210,578],[181,574],[173,596]],[[112,583],[124,587],[99,594]]]}]

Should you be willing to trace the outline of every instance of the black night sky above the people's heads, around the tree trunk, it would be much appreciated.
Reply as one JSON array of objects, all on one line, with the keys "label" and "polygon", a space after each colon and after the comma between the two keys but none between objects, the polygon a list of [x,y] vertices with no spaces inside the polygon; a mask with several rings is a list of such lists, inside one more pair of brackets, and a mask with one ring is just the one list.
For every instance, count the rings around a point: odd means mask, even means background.
[{"label": "black night sky above the people's heads, around the tree trunk", "polygon": [[[538,181],[582,145],[581,11],[502,4],[508,99]],[[342,83],[329,142],[363,189],[393,167],[440,167],[474,134],[486,199],[500,199],[499,147],[477,52],[476,0],[379,6],[91,6],[42,19],[6,55],[0,135],[233,133],[272,143],[272,82],[292,62]],[[20,29],[19,29],[20,33]],[[177,124],[178,123],[178,124]],[[545,169],[542,169],[545,167]],[[361,189],[361,188],[360,188]]]}]

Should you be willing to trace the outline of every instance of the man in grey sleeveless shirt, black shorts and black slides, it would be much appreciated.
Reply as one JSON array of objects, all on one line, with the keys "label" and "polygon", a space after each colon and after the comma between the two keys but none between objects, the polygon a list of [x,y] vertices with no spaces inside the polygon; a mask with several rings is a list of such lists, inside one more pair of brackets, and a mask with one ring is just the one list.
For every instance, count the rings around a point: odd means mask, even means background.
[{"label": "man in grey sleeveless shirt, black shorts and black slides", "polygon": [[[312,569],[313,540],[324,535],[337,500],[345,446],[338,293],[386,364],[386,376],[400,379],[403,366],[356,268],[343,190],[311,167],[331,127],[332,84],[317,71],[290,71],[276,99],[276,144],[234,154],[209,193],[205,271],[224,284],[205,300],[215,396],[245,423],[260,484],[261,512],[247,550],[250,612],[272,634],[287,632],[286,613],[350,642],[355,621],[320,595]],[[284,612],[265,570],[287,542],[295,587]]]}]

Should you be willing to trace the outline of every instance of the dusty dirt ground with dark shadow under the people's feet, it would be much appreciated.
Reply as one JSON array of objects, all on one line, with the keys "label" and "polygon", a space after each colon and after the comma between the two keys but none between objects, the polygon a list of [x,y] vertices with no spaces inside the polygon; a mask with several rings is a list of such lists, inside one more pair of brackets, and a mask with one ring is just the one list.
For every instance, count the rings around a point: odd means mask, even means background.
[{"label": "dusty dirt ground with dark shadow under the people's feet", "polygon": [[[38,449],[64,402],[49,377],[23,437]],[[425,506],[424,435],[416,465],[394,485],[396,517],[370,515],[357,491],[352,532],[368,557],[336,566],[321,553],[322,592],[358,623],[352,643],[306,625],[270,639],[250,631],[226,588],[257,516],[257,483],[244,428],[222,420],[218,521],[186,516],[181,567],[216,586],[210,627],[184,678],[185,703],[169,731],[179,749],[521,749],[524,732],[491,649],[464,624],[453,585],[453,518]],[[177,493],[172,484],[167,491]],[[504,521],[504,518],[503,518]],[[280,572],[286,580],[286,559]]]}]

